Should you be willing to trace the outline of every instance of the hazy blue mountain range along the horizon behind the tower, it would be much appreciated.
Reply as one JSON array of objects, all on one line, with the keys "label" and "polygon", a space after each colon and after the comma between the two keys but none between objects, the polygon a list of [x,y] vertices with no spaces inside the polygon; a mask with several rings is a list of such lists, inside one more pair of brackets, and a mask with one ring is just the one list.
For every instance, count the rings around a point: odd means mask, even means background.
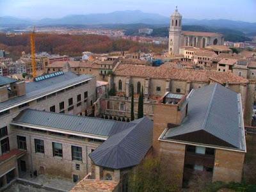
[{"label": "hazy blue mountain range along the horizon behind the tower", "polygon": [[[183,25],[209,26],[211,28],[229,28],[252,33],[256,31],[256,23],[227,19],[196,20],[182,19]],[[99,24],[151,24],[168,25],[169,17],[156,13],[141,11],[120,11],[112,13],[97,13],[88,15],[67,15],[60,19],[45,18],[41,20],[18,19],[16,17],[0,17],[1,27],[11,26],[56,26],[56,25],[99,25]]]}]

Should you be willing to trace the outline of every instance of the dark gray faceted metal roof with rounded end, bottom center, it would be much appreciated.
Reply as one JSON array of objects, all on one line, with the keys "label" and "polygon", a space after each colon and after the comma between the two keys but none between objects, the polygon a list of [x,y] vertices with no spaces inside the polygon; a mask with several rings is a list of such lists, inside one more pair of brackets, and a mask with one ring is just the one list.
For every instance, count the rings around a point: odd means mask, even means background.
[{"label": "dark gray faceted metal roof with rounded end, bottom center", "polygon": [[153,122],[144,117],[129,124],[133,126],[109,137],[89,155],[93,163],[113,169],[140,164],[152,146]]}]

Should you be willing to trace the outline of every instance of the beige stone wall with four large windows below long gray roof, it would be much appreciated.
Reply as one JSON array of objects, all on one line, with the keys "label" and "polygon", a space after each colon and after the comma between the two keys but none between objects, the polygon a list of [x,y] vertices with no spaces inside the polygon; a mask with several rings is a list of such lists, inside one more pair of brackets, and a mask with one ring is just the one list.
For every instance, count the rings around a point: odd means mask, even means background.
[{"label": "beige stone wall with four large windows below long gray roof", "polygon": [[[100,142],[82,140],[78,138],[67,138],[67,136],[56,136],[35,131],[26,131],[12,127],[13,140],[16,138],[15,148],[17,148],[17,136],[26,137],[27,154],[21,157],[26,161],[28,172],[37,171],[54,176],[72,178],[72,175],[79,175],[83,179],[85,175],[92,172],[92,161],[88,155],[99,147]],[[44,154],[35,152],[35,139],[44,140]],[[61,143],[63,157],[53,156],[52,142]],[[72,160],[71,146],[82,147],[82,161]],[[76,164],[80,165],[80,170],[76,170]]]}]

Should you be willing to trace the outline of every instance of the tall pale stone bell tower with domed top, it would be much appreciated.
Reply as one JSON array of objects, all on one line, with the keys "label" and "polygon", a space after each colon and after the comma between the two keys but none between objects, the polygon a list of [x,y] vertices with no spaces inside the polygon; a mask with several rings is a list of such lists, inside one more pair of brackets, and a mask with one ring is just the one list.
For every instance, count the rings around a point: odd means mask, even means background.
[{"label": "tall pale stone bell tower with domed top", "polygon": [[177,6],[175,12],[171,16],[170,31],[169,31],[169,54],[179,54],[181,41],[181,20],[182,15],[178,12]]}]

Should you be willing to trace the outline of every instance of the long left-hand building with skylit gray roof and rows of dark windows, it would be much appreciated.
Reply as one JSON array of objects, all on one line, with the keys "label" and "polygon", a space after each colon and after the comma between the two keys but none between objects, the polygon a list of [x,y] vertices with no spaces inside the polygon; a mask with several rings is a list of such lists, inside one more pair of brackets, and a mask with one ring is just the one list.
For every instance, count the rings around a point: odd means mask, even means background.
[{"label": "long left-hand building with skylit gray roof and rows of dark windows", "polygon": [[[93,113],[92,105],[96,99],[95,89],[94,76],[78,76],[72,72],[39,76],[29,83],[0,76],[0,176],[3,185],[10,182],[10,178],[19,175],[17,159],[24,155],[24,152],[17,148],[17,138],[13,138],[10,126],[13,118],[28,108],[90,115]],[[22,138],[20,142],[22,143]]]}]

